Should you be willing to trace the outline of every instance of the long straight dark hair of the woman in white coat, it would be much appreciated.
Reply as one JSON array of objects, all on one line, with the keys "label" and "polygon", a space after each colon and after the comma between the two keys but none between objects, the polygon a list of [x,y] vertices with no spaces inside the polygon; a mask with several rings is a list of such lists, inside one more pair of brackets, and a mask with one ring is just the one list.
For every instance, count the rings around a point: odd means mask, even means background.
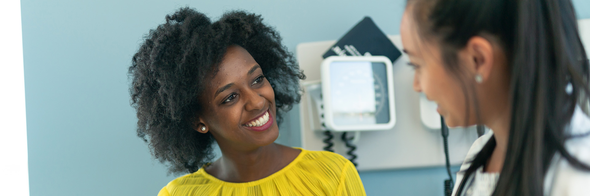
[{"label": "long straight dark hair of the woman in white coat", "polygon": [[[422,37],[439,43],[445,70],[463,84],[471,80],[461,74],[457,51],[470,38],[493,35],[506,52],[512,111],[508,150],[492,195],[543,195],[545,174],[556,153],[574,168],[590,171],[564,147],[566,139],[574,137],[567,128],[573,111],[579,105],[588,114],[590,93],[590,65],[570,0],[409,0],[409,4],[414,5]],[[463,89],[466,97],[476,97],[465,90],[470,88]],[[461,171],[465,175],[457,195],[495,147],[491,138],[470,167]]]}]

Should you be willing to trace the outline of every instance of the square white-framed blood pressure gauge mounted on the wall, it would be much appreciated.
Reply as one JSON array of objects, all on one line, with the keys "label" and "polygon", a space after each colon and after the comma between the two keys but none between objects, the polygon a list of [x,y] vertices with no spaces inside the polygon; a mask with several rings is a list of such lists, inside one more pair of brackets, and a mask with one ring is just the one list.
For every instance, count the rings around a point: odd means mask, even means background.
[{"label": "square white-framed blood pressure gauge mounted on the wall", "polygon": [[395,125],[394,78],[387,57],[332,56],[322,62],[324,124],[330,131]]}]

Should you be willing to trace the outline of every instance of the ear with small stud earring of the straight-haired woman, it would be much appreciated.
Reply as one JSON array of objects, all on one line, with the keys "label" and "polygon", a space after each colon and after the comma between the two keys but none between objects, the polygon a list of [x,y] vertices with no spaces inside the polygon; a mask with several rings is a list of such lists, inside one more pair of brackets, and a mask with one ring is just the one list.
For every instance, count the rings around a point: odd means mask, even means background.
[{"label": "ear with small stud earring of the straight-haired woman", "polygon": [[491,42],[481,36],[473,36],[467,41],[465,52],[468,58],[468,65],[474,72],[474,80],[477,83],[487,81],[494,67],[494,47]]}]

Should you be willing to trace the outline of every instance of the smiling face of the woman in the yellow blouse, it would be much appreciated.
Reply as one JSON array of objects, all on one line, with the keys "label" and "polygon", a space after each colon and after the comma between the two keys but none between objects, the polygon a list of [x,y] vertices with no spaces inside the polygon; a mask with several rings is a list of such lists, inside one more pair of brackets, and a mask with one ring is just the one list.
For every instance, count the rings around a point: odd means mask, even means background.
[{"label": "smiling face of the woman in the yellow blouse", "polygon": [[206,131],[219,147],[242,150],[271,144],[278,137],[274,91],[263,70],[241,46],[230,46],[201,100],[204,112],[195,129]]}]

